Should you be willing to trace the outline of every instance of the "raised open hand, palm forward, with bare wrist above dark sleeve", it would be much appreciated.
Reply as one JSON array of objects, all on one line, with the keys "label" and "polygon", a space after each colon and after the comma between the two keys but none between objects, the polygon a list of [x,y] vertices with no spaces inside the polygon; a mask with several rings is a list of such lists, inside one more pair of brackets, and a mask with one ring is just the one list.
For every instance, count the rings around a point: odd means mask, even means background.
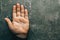
[{"label": "raised open hand, palm forward, with bare wrist above dark sleeve", "polygon": [[13,6],[12,16],[12,21],[9,18],[5,18],[10,30],[17,37],[26,38],[29,30],[28,10],[23,5],[17,3]]}]

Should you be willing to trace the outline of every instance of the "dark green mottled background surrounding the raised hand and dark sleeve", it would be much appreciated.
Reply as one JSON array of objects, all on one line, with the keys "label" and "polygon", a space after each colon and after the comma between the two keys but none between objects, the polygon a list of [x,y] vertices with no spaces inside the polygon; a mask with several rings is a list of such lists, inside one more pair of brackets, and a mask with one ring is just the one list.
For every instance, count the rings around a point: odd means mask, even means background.
[{"label": "dark green mottled background surrounding the raised hand and dark sleeve", "polygon": [[[17,2],[24,4],[23,0],[0,0],[0,40],[15,40],[4,18],[11,19],[12,6]],[[31,8],[26,8],[30,19],[28,40],[60,40],[60,0],[32,0]]]}]

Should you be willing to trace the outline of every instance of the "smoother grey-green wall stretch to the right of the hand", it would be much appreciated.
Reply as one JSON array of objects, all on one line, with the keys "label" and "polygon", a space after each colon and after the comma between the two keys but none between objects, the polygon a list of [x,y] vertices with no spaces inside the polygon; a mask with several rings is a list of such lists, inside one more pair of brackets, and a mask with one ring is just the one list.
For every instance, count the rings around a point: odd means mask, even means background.
[{"label": "smoother grey-green wall stretch to the right of the hand", "polygon": [[29,40],[60,40],[60,0],[32,0]]}]

